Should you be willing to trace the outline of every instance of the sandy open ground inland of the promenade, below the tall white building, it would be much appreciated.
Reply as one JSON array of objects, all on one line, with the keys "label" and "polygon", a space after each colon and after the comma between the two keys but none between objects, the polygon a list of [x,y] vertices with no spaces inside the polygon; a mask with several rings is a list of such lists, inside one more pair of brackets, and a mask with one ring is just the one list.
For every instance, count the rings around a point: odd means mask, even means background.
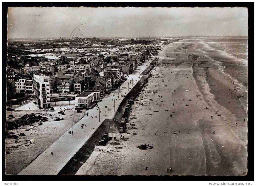
[{"label": "sandy open ground inland of the promenade, below the tall white building", "polygon": [[[60,104],[60,103],[59,103]],[[74,103],[73,103],[74,104]],[[15,111],[7,111],[7,116],[12,114],[14,119],[23,116],[24,114],[39,114],[47,117],[48,121],[40,123],[33,123],[32,125],[25,125],[16,130],[8,130],[15,134],[24,133],[25,136],[18,136],[17,139],[7,138],[6,143],[6,168],[7,174],[17,174],[24,169],[28,163],[35,158],[42,150],[47,149],[54,143],[63,133],[65,133],[72,125],[76,124],[82,117],[83,113],[74,112],[71,109],[74,105],[57,105],[55,110],[50,110],[44,113],[42,109],[36,110],[37,105],[32,102],[16,108]],[[23,109],[23,110],[19,110]],[[58,112],[65,109],[65,115]],[[54,121],[57,117],[62,118],[61,121]],[[63,122],[64,121],[64,122]],[[27,141],[34,138],[34,143],[29,145]]]}]

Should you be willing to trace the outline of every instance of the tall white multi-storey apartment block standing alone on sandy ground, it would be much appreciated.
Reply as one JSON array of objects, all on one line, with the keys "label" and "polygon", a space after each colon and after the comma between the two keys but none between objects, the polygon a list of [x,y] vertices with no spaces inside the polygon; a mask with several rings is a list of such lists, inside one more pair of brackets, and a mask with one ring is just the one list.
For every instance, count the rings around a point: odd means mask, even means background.
[{"label": "tall white multi-storey apartment block standing alone on sandy ground", "polygon": [[50,80],[44,74],[34,74],[34,92],[35,102],[41,108],[50,107]]}]

